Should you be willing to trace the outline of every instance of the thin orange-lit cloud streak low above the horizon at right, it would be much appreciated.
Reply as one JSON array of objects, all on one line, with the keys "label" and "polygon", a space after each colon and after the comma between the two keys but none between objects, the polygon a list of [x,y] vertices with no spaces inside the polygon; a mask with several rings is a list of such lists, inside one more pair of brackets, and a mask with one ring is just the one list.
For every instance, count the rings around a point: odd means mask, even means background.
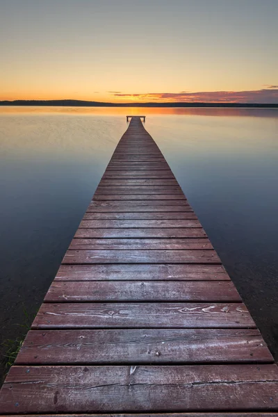
[{"label": "thin orange-lit cloud streak low above the horizon at right", "polygon": [[126,99],[137,99],[140,101],[276,104],[278,103],[277,88],[277,85],[269,85],[261,90],[246,91],[148,92],[144,94],[113,92],[113,94],[115,97],[125,97]]}]

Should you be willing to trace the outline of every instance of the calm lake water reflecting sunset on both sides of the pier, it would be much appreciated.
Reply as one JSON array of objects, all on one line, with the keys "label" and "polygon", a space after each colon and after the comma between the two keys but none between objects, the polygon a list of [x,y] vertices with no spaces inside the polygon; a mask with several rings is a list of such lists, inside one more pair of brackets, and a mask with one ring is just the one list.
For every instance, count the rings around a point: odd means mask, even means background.
[{"label": "calm lake water reflecting sunset on both sides of the pier", "polygon": [[140,113],[277,358],[278,109],[0,107],[2,340],[38,310]]}]

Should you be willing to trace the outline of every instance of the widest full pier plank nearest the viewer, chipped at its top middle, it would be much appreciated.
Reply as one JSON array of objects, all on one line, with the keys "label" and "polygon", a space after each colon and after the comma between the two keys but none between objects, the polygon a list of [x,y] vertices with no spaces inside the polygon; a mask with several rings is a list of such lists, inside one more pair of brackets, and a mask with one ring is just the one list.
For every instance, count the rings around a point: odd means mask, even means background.
[{"label": "widest full pier plank nearest the viewer, chipped at its top middle", "polygon": [[277,410],[277,366],[13,366],[3,413]]}]

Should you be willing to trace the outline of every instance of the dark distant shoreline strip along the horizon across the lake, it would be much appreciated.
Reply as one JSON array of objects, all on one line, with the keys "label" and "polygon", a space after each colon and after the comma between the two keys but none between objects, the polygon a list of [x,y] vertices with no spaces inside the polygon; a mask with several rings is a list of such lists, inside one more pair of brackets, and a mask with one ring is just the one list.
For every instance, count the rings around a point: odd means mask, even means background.
[{"label": "dark distant shoreline strip along the horizon across the lake", "polygon": [[206,108],[278,108],[276,104],[259,103],[103,103],[84,100],[3,100],[0,106],[64,106],[64,107],[206,107]]}]

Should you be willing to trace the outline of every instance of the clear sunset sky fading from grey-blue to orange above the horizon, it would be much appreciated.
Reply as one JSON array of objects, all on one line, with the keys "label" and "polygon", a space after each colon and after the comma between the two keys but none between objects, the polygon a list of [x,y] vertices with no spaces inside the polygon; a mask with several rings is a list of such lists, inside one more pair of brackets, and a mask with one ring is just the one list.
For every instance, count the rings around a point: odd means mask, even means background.
[{"label": "clear sunset sky fading from grey-blue to orange above the horizon", "polygon": [[278,0],[0,0],[0,100],[278,103]]}]

